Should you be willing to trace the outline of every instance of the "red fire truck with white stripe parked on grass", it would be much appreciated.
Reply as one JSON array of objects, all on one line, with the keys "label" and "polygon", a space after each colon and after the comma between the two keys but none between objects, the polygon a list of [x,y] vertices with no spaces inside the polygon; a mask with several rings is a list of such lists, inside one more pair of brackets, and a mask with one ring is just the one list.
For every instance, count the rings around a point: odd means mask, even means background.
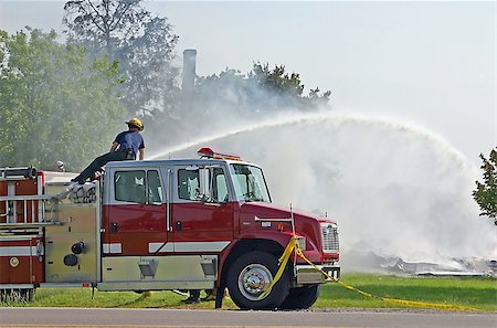
[{"label": "red fire truck with white stripe parked on grass", "polygon": [[[242,309],[310,307],[339,278],[336,222],[273,204],[257,165],[210,148],[199,155],[109,162],[84,184],[70,182],[73,173],[1,168],[2,297],[30,300],[44,287],[215,289],[221,307],[228,288]],[[293,252],[272,284],[293,237],[314,265]]]}]

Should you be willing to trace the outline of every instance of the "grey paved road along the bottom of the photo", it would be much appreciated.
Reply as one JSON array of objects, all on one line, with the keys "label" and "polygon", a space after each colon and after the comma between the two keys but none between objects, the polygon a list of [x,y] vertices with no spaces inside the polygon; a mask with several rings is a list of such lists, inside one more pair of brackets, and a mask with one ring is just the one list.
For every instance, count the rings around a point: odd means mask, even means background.
[{"label": "grey paved road along the bottom of the photo", "polygon": [[137,328],[495,328],[497,314],[330,310],[240,311],[200,309],[0,308],[0,327]]}]

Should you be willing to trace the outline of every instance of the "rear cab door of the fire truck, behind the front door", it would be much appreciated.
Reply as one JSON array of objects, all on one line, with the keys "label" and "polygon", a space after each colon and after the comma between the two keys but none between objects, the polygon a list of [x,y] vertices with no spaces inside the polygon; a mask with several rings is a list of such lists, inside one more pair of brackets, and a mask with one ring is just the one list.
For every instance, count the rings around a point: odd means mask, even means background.
[{"label": "rear cab door of the fire truck, behind the front door", "polygon": [[167,194],[158,168],[116,168],[104,204],[104,256],[146,255],[168,241]]}]

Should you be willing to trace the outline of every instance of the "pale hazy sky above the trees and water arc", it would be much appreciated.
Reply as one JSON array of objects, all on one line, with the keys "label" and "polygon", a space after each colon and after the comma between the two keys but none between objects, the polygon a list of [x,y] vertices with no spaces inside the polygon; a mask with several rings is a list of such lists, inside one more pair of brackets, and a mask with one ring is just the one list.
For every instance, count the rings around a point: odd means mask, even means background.
[{"label": "pale hazy sky above the trees and water arc", "polygon": [[[61,30],[64,1],[0,0],[0,29]],[[425,128],[474,165],[497,145],[494,1],[146,1],[197,74],[283,64],[334,110]]]}]

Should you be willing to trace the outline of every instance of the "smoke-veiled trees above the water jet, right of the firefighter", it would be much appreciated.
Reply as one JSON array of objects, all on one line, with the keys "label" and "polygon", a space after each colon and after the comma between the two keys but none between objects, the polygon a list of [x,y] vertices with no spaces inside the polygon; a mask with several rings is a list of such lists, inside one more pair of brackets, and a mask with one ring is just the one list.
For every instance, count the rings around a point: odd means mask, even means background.
[{"label": "smoke-veiled trees above the water jet, right of the firefighter", "polygon": [[165,138],[148,141],[154,148],[166,144],[218,135],[220,131],[271,119],[285,110],[303,112],[320,108],[330,92],[319,88],[304,95],[298,73],[287,73],[284,65],[254,63],[248,73],[226,68],[219,74],[197,76],[194,93],[178,96],[173,115],[157,115],[147,120],[147,131]]}]

